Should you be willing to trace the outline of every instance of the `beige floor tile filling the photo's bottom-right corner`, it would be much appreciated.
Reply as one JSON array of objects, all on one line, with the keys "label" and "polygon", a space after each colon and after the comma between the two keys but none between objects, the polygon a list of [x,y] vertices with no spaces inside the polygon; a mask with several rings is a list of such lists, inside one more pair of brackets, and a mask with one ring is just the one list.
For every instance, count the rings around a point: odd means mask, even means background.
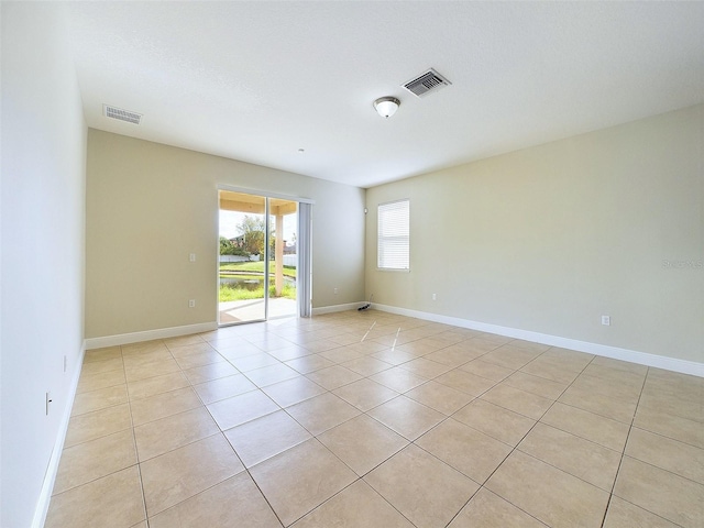
[{"label": "beige floor tile filling the photo's bottom-right corner", "polygon": [[704,526],[704,486],[624,457],[614,495],[684,528]]}]

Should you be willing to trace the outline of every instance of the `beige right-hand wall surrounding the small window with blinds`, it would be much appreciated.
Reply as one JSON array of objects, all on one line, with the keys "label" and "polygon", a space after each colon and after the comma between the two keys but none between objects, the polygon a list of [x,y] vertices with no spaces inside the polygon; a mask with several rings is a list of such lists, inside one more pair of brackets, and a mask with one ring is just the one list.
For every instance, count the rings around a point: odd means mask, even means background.
[{"label": "beige right-hand wall surrounding the small window with blinds", "polygon": [[[366,295],[704,362],[703,129],[697,106],[369,189]],[[376,207],[400,198],[411,271],[380,272]]]}]

